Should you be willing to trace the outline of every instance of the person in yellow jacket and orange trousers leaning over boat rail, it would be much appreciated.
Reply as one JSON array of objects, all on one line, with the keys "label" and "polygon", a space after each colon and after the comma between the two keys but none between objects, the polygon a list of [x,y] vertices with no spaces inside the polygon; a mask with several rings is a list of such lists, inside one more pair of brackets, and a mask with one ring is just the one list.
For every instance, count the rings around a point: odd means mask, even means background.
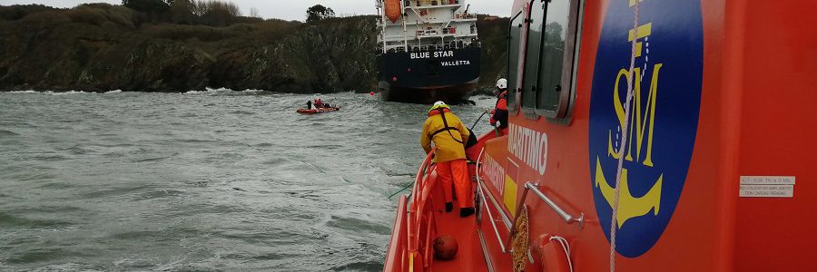
[{"label": "person in yellow jacket and orange trousers leaning over boat rail", "polygon": [[446,195],[446,212],[454,210],[454,199],[451,182],[457,190],[459,216],[462,218],[474,214],[474,199],[471,197],[471,182],[468,180],[468,161],[466,160],[463,141],[468,140],[469,131],[459,118],[451,113],[445,102],[436,102],[428,110],[428,119],[423,124],[420,144],[426,153],[431,151],[431,142],[437,147],[434,162],[437,164],[437,177],[442,181]]}]

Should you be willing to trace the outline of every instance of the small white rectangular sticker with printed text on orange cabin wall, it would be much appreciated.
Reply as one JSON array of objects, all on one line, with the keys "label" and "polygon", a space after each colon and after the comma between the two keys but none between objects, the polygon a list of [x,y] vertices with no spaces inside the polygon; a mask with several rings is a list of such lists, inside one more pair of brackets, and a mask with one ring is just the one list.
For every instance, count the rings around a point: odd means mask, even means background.
[{"label": "small white rectangular sticker with printed text on orange cabin wall", "polygon": [[794,177],[742,176],[741,198],[793,198]]}]

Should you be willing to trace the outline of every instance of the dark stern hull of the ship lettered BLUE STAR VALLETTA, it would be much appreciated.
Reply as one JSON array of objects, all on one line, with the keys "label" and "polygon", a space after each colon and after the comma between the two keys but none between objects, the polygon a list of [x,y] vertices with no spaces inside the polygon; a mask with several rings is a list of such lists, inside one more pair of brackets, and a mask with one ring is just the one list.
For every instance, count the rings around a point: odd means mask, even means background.
[{"label": "dark stern hull of the ship lettered BLUE STAR VALLETTA", "polygon": [[378,56],[380,98],[389,102],[458,104],[479,82],[478,47]]}]

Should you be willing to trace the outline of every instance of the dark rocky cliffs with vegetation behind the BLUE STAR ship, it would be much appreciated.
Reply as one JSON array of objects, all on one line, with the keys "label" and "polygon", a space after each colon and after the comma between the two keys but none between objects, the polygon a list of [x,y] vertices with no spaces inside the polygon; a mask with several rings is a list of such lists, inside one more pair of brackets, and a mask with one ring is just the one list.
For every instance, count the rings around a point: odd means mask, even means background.
[{"label": "dark rocky cliffs with vegetation behind the BLUE STAR ship", "polygon": [[[314,11],[301,23],[214,0],[0,6],[0,90],[372,90],[375,17]],[[477,27],[489,88],[507,65],[507,18]]]}]

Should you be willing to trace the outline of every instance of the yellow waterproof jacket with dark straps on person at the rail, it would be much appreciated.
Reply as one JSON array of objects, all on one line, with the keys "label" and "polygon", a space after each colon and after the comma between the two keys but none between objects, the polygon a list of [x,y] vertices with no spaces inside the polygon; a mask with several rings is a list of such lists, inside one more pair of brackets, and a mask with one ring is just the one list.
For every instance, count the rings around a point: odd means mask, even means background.
[{"label": "yellow waterproof jacket with dark straps on person at the rail", "polygon": [[[440,114],[438,110],[428,112],[428,119],[423,124],[423,133],[420,135],[420,144],[426,153],[431,151],[431,142],[437,147],[434,162],[446,162],[451,160],[466,159],[464,141],[468,141],[470,136],[468,129],[459,121],[459,118],[444,109],[445,114]],[[443,122],[445,115],[448,128]],[[449,133],[450,132],[450,133]]]}]

